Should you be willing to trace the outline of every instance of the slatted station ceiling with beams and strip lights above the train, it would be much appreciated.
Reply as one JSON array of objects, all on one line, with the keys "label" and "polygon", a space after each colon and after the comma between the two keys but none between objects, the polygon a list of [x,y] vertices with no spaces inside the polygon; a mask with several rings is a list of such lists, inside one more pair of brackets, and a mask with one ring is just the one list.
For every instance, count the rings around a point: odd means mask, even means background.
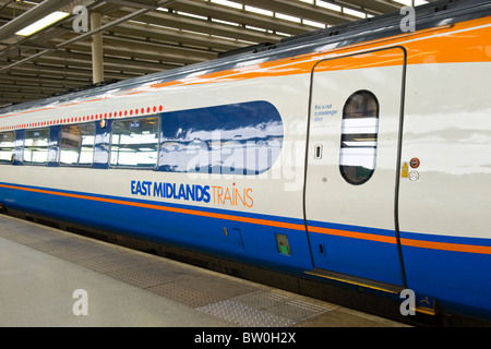
[{"label": "slatted station ceiling with beams and strip lights above the train", "polygon": [[[0,107],[93,84],[93,33],[83,21],[89,15],[73,13],[75,7],[101,15],[104,80],[112,82],[426,2],[0,0]],[[29,36],[15,34],[53,11],[68,16]]]}]

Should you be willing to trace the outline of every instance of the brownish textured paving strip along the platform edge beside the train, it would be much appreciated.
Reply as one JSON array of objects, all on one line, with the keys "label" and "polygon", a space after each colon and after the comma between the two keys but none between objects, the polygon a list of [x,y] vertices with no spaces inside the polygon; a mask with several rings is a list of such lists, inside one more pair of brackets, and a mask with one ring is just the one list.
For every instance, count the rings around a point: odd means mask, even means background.
[{"label": "brownish textured paving strip along the platform edge beside the train", "polygon": [[331,309],[163,257],[11,217],[0,236],[244,327],[285,327]]}]

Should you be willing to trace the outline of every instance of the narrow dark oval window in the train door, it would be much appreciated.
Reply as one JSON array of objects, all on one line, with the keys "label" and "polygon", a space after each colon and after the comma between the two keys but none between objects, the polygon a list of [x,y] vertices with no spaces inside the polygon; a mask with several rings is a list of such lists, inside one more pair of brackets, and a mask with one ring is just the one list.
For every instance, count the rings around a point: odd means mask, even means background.
[{"label": "narrow dark oval window in the train door", "polygon": [[350,184],[366,183],[375,171],[379,101],[369,91],[349,96],[343,108],[339,170]]}]

